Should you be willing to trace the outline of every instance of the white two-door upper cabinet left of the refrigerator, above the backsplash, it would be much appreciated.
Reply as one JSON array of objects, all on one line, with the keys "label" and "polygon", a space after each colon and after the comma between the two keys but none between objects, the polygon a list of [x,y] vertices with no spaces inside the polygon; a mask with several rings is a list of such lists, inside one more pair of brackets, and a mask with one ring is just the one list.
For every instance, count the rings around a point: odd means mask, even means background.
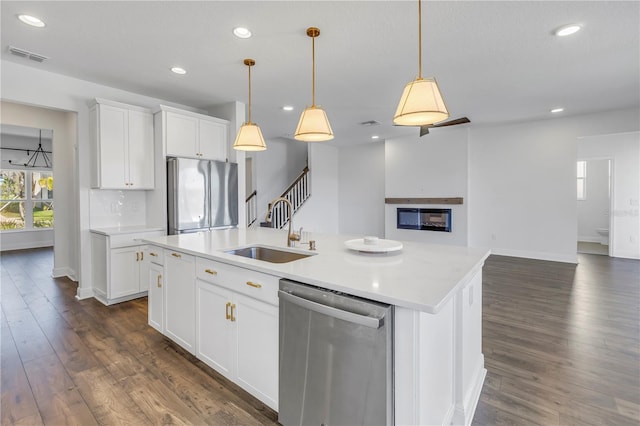
[{"label": "white two-door upper cabinet left of the refrigerator, above the backsplash", "polygon": [[96,99],[90,107],[91,186],[154,189],[153,114],[145,108]]}]

